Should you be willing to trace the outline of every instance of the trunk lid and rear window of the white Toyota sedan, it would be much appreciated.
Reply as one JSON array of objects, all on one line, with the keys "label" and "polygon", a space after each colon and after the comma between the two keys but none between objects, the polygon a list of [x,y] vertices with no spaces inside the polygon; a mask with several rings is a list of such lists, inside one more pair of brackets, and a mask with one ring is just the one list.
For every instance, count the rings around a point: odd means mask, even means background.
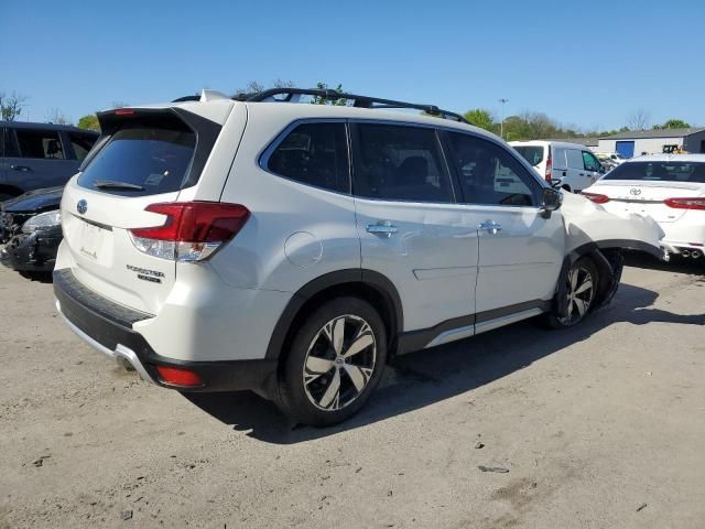
[{"label": "trunk lid and rear window of the white Toyota sedan", "polygon": [[687,212],[670,207],[669,198],[703,195],[705,163],[676,160],[644,160],[622,163],[593,187],[609,198],[608,208],[650,216],[658,223],[673,223]]}]

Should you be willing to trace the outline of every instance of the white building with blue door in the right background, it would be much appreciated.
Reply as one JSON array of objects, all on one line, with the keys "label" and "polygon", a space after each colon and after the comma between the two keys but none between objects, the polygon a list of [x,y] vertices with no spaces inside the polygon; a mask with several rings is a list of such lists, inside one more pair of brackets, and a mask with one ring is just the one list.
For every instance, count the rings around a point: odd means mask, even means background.
[{"label": "white building with blue door in the right background", "polygon": [[640,154],[662,154],[683,149],[705,153],[705,128],[630,130],[600,138],[597,152],[618,152],[631,158]]}]

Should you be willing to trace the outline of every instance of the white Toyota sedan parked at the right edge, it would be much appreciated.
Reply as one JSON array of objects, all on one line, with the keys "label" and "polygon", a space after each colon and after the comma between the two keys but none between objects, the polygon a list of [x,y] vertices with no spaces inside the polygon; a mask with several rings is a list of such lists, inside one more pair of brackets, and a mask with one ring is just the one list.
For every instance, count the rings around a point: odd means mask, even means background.
[{"label": "white Toyota sedan parked at the right edge", "polygon": [[671,253],[699,259],[705,250],[705,154],[661,154],[628,160],[583,192],[618,215],[653,218]]}]

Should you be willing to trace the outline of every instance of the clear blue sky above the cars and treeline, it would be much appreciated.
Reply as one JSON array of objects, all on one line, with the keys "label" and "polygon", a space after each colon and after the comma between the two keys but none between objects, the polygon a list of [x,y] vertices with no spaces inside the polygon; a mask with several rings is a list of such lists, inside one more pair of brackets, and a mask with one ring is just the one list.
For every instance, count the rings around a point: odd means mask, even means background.
[{"label": "clear blue sky above the cars and treeline", "polygon": [[583,130],[644,109],[705,126],[705,2],[0,0],[0,91],[22,120],[301,87],[465,112],[545,112]]}]

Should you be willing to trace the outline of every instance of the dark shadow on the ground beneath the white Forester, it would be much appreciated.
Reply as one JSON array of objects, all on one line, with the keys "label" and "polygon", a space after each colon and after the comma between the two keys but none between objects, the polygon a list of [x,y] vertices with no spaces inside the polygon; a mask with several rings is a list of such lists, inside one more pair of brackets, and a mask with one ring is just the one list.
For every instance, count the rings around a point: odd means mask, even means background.
[{"label": "dark shadow on the ground beneath the white Forester", "polygon": [[300,443],[365,427],[481,387],[585,341],[612,323],[705,325],[705,313],[682,315],[653,309],[658,295],[651,290],[621,284],[610,305],[573,328],[544,331],[527,321],[402,356],[388,366],[366,407],[350,420],[332,428],[296,427],[273,403],[250,392],[184,393],[184,397],[252,438],[274,444]]}]

